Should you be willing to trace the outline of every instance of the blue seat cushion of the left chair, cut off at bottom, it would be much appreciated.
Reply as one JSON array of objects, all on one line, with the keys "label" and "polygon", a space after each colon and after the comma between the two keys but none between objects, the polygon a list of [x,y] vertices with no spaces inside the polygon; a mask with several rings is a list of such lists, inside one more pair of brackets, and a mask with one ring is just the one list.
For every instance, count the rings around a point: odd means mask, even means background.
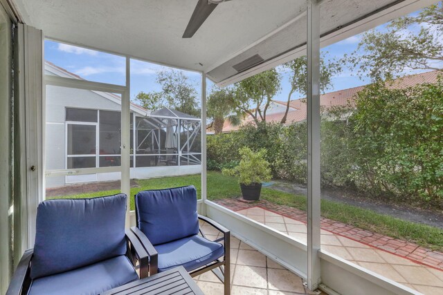
[{"label": "blue seat cushion of the left chair, cut off at bottom", "polygon": [[122,255],[69,272],[44,276],[33,280],[29,295],[96,295],[137,280],[137,273]]}]

